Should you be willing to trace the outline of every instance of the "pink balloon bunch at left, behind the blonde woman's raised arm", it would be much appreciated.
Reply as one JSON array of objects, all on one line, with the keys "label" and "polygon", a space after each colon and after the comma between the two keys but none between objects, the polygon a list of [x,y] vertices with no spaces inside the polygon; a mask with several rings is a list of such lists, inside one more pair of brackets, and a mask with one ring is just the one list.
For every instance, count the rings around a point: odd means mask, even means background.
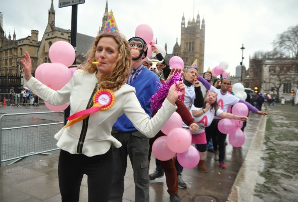
[{"label": "pink balloon bunch at left, behind the blonde woman's raised arm", "polygon": [[[54,90],[60,90],[72,77],[68,66],[75,60],[75,50],[70,43],[57,41],[49,48],[48,56],[52,63],[39,65],[35,70],[35,78]],[[53,106],[47,102],[45,106],[55,112],[63,111],[68,107],[68,105]]]}]

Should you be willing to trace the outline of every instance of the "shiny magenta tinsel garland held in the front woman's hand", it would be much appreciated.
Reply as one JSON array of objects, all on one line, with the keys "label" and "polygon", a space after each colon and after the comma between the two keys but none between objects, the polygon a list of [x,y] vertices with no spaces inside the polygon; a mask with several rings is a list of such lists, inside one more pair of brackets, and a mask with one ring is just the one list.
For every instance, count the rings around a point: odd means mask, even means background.
[{"label": "shiny magenta tinsel garland held in the front woman's hand", "polygon": [[173,74],[168,82],[165,82],[161,87],[159,87],[159,90],[154,95],[152,95],[149,100],[149,102],[151,103],[151,110],[159,110],[162,107],[165,98],[168,96],[171,85],[173,85],[177,81],[182,81],[179,73]]}]

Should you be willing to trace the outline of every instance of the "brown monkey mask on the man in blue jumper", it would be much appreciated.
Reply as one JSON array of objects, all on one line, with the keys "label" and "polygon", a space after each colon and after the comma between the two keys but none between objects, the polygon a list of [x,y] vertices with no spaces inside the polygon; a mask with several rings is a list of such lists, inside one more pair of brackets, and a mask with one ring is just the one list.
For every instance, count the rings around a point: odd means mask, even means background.
[{"label": "brown monkey mask on the man in blue jumper", "polygon": [[128,40],[128,43],[132,60],[138,60],[141,57],[142,59],[146,58],[148,48],[146,42],[142,38],[137,36],[132,37]]}]

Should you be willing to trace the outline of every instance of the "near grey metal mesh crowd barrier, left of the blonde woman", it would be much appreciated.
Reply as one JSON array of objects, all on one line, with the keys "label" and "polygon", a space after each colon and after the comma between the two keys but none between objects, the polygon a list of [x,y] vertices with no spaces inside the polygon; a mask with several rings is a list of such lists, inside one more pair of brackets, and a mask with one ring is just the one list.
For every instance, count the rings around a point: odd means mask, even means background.
[{"label": "near grey metal mesh crowd barrier, left of the blonde woman", "polygon": [[[12,160],[16,160],[14,162],[17,162],[25,157],[46,154],[49,151],[59,149],[56,145],[57,140],[54,138],[54,135],[64,126],[64,122],[46,119],[45,116],[42,115],[58,113],[60,113],[60,116],[58,115],[60,118],[64,118],[64,112],[36,112],[2,115],[0,117],[0,166],[3,162]],[[51,118],[53,118],[53,116]],[[26,122],[28,124],[20,126],[21,124],[18,122]],[[38,124],[39,122],[51,123]],[[8,123],[6,125],[9,126],[16,125],[16,127],[5,127],[5,123]],[[37,124],[30,125],[34,123]]]}]

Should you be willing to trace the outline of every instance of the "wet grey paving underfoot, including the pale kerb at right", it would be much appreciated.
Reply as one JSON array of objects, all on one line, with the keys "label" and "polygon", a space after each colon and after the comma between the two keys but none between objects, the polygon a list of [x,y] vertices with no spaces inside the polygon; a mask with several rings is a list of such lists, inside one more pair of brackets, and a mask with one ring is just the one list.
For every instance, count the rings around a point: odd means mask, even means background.
[{"label": "wet grey paving underfoot, including the pale kerb at right", "polygon": [[[42,104],[39,107],[0,107],[0,115],[44,111],[48,110]],[[197,168],[184,169],[182,178],[187,188],[179,188],[181,201],[254,201],[265,126],[266,117],[250,114],[244,130],[246,140],[243,146],[234,148],[228,143],[226,147],[226,170],[219,168],[210,152],[206,165],[208,173],[202,173]],[[56,152],[0,167],[0,201],[61,201],[58,158],[59,153]],[[150,173],[154,168],[155,157],[152,156]],[[87,201],[86,176],[81,185],[80,201]],[[123,201],[134,201],[133,173],[129,160]],[[150,201],[169,201],[165,177],[151,181]]]}]

